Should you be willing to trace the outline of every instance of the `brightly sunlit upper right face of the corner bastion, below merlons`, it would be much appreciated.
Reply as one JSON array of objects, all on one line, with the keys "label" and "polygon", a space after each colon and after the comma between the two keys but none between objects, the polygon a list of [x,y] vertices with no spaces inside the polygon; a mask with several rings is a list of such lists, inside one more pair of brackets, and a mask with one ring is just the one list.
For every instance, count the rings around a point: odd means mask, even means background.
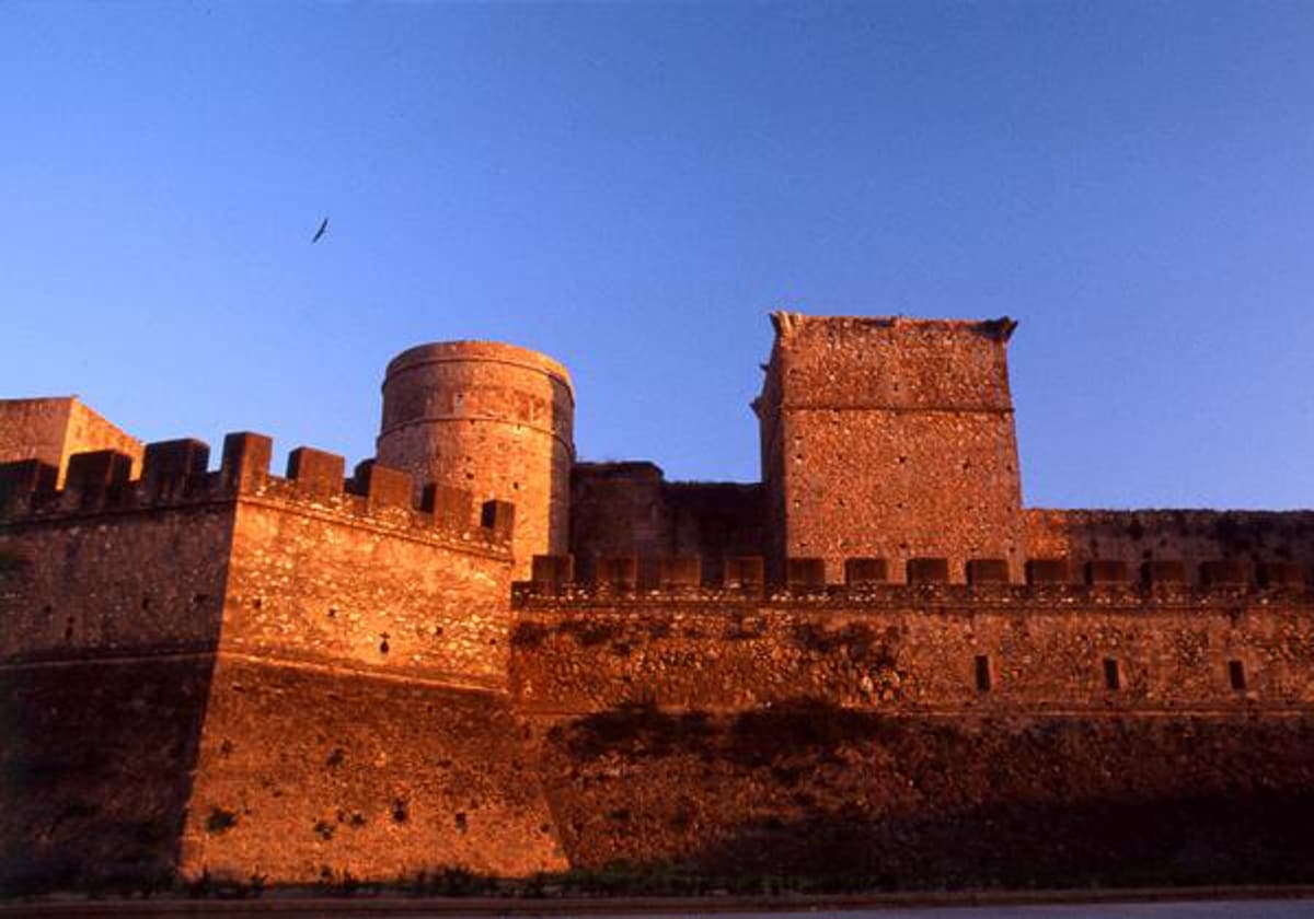
[{"label": "brightly sunlit upper right face of the corner bastion, below merlons", "polygon": [[505,545],[281,500],[285,491],[265,483],[238,508],[225,651],[505,685]]}]

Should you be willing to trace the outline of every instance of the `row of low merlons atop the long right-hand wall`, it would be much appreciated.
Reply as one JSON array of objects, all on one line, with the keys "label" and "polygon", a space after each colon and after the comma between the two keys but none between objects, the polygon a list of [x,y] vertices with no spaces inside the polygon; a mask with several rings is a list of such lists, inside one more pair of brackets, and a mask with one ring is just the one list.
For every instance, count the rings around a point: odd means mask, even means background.
[{"label": "row of low merlons atop the long right-hand wall", "polygon": [[625,597],[643,603],[786,603],[786,604],[1018,604],[1031,600],[1064,605],[1204,605],[1281,601],[1314,603],[1314,579],[1294,562],[1250,565],[1214,559],[1198,565],[1152,561],[1131,566],[1118,559],[1075,565],[1066,558],[1035,558],[1024,566],[1025,579],[1010,578],[1005,559],[979,558],[966,563],[966,578],[951,576],[943,558],[913,558],[903,579],[891,579],[883,558],[845,559],[844,580],[827,579],[825,559],[790,558],[786,576],[770,579],[759,555],[703,559],[679,557],[599,557],[577,575],[570,555],[536,555],[532,579],[512,584],[512,600],[524,607],[539,601],[590,604]]}]

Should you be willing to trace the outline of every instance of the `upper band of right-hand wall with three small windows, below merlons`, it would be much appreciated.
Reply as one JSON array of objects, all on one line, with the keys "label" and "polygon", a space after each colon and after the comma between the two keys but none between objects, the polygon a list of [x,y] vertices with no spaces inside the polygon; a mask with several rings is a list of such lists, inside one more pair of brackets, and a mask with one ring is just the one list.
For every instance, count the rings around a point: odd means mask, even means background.
[{"label": "upper band of right-hand wall with three small windows, below merlons", "polygon": [[[1305,596],[1134,588],[892,587],[745,601],[686,591],[531,596],[512,634],[526,710],[798,697],[884,712],[1271,709],[1314,704]],[[976,658],[993,673],[983,692]],[[1122,683],[1110,689],[1104,660]],[[1229,662],[1246,672],[1230,684]]]}]

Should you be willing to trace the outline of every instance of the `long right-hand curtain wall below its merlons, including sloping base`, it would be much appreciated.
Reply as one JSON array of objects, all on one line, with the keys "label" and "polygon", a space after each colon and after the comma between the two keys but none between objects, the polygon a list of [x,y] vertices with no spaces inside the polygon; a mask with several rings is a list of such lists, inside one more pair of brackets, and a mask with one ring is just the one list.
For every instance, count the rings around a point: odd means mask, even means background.
[{"label": "long right-hand curtain wall below its merlons, including sloping base", "polygon": [[518,603],[512,691],[572,865],[848,887],[1314,877],[1307,595]]}]

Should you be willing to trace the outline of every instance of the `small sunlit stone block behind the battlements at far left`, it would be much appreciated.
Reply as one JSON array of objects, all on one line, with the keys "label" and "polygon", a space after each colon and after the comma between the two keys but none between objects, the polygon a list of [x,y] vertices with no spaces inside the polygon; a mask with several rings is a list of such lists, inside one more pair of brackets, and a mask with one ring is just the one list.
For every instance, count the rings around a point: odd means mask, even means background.
[{"label": "small sunlit stone block behind the battlements at far left", "polygon": [[0,462],[41,460],[59,470],[63,486],[68,458],[89,450],[126,453],[141,471],[142,442],[75,396],[0,399]]}]

